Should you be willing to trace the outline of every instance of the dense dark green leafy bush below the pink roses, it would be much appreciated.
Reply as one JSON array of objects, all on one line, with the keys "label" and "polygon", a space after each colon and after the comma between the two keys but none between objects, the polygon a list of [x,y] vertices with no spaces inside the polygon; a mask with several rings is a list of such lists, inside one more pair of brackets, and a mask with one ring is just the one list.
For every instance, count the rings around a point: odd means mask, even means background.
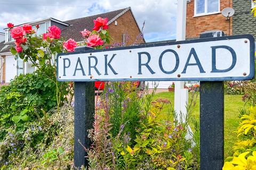
[{"label": "dense dark green leafy bush below the pink roses", "polygon": [[[57,106],[55,83],[45,77],[52,76],[51,67],[33,74],[21,74],[15,77],[9,86],[0,89],[0,141],[7,130],[14,128],[14,133],[22,134],[28,128],[26,123],[41,120],[44,114]],[[67,88],[67,83],[59,84],[59,89]],[[67,101],[68,90],[61,92],[60,100]],[[40,139],[38,139],[40,140]],[[37,143],[37,142],[36,142]]]}]

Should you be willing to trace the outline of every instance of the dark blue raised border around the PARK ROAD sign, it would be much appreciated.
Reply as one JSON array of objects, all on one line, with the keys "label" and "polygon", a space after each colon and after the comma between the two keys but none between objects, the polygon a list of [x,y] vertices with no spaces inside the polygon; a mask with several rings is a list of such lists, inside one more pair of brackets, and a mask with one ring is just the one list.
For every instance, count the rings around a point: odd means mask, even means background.
[{"label": "dark blue raised border around the PARK ROAD sign", "polygon": [[[168,46],[168,45],[179,45],[179,44],[190,44],[190,43],[202,43],[209,41],[218,41],[218,40],[229,40],[229,39],[249,39],[250,43],[250,74],[245,77],[213,77],[213,78],[127,78],[127,79],[59,79],[59,67],[58,67],[58,59],[59,56],[63,55],[72,55],[72,54],[86,54],[86,53],[97,53],[97,52],[108,52],[115,50],[123,50],[123,49],[135,49],[135,48],[147,48],[147,47],[158,47],[158,46]],[[71,53],[59,53],[57,55],[57,80],[58,81],[75,81],[75,82],[93,82],[93,81],[234,81],[234,80],[251,80],[254,78],[255,74],[255,64],[254,64],[254,55],[255,55],[255,44],[254,38],[252,35],[236,35],[236,36],[224,36],[224,37],[214,37],[214,38],[202,38],[202,39],[191,39],[191,40],[183,40],[183,41],[171,41],[167,43],[152,43],[152,44],[141,44],[136,46],[126,46],[126,47],[116,47],[116,48],[108,48],[108,49],[90,49],[90,50],[81,50],[78,52]]]}]

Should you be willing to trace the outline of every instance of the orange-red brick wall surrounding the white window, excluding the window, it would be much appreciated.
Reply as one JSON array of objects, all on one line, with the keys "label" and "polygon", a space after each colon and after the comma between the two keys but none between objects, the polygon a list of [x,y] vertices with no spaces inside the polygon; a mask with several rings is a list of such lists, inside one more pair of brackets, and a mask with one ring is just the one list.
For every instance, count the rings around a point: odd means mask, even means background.
[{"label": "orange-red brick wall surrounding the white window, excluding the window", "polygon": [[[194,1],[187,4],[186,38],[198,38],[200,33],[210,30],[222,30],[227,35],[230,30],[232,35],[232,18],[229,29],[229,21],[221,13],[194,17]],[[232,0],[220,0],[220,11],[226,7],[232,7]]]}]

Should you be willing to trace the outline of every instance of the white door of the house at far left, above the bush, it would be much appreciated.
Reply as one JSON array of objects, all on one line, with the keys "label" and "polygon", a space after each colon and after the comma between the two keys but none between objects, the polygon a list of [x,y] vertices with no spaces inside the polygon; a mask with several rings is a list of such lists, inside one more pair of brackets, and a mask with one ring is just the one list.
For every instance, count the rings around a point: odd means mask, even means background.
[{"label": "white door of the house at far left, above the bush", "polygon": [[5,82],[10,83],[10,81],[17,75],[17,61],[14,59],[13,55],[7,55],[5,57]]}]

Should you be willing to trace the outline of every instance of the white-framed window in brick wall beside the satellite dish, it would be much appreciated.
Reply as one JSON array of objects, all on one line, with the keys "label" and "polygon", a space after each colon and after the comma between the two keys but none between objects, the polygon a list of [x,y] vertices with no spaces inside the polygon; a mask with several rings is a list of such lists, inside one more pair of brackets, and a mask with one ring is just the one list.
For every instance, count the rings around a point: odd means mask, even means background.
[{"label": "white-framed window in brick wall beside the satellite dish", "polygon": [[195,0],[195,16],[220,12],[220,0]]}]

